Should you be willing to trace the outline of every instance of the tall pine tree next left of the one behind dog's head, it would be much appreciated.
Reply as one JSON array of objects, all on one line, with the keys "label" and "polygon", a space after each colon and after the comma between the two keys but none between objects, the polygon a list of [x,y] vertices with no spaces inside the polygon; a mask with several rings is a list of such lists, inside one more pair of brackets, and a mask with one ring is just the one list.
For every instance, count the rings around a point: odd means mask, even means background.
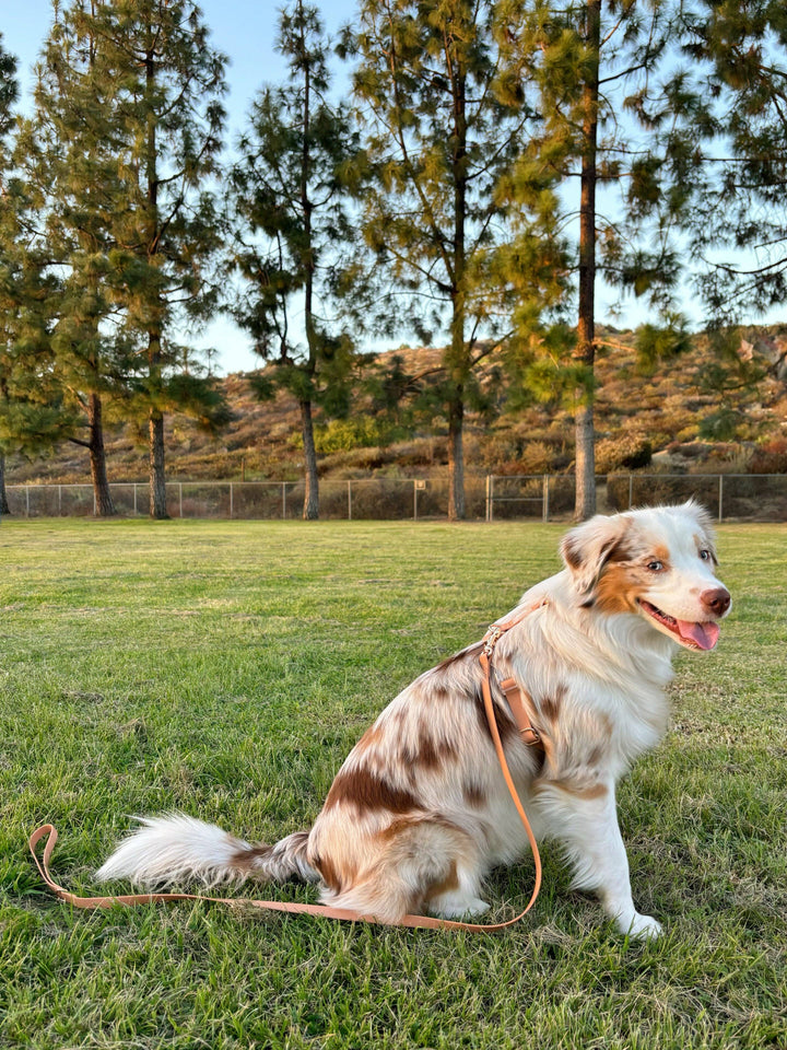
[{"label": "tall pine tree next left of the one behind dog's head", "polygon": [[491,252],[505,205],[501,175],[527,136],[522,86],[503,61],[525,4],[491,0],[364,0],[344,36],[355,56],[354,94],[367,121],[376,175],[365,235],[390,285],[398,325],[407,313],[422,339],[446,324],[441,382],[448,432],[450,518],[465,516],[463,423],[477,372],[498,331]]}]

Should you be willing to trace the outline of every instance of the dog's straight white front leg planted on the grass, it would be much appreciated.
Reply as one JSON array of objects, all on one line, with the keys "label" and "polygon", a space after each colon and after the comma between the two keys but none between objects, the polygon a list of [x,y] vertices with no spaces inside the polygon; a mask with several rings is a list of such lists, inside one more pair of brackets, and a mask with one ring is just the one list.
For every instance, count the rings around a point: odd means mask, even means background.
[{"label": "dog's straight white front leg planted on the grass", "polygon": [[656,919],[634,908],[614,784],[548,781],[539,791],[538,805],[547,833],[563,845],[574,868],[572,886],[596,892],[621,933],[658,936],[661,925]]}]

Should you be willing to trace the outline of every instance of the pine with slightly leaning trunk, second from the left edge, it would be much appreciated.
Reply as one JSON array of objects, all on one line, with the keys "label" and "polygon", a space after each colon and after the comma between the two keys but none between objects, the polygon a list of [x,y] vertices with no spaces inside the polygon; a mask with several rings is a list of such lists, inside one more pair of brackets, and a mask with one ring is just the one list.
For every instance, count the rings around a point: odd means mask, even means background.
[{"label": "pine with slightly leaning trunk, second from the left edge", "polygon": [[87,432],[82,438],[78,427],[63,436],[89,451],[96,513],[109,516],[116,512],[104,446],[105,404],[126,393],[130,365],[126,341],[111,330],[109,256],[116,246],[110,228],[122,200],[109,119],[116,84],[97,62],[87,10],[74,3],[56,12],[21,150],[25,177],[46,201],[42,236],[58,275],[57,294],[48,304],[51,368]]}]

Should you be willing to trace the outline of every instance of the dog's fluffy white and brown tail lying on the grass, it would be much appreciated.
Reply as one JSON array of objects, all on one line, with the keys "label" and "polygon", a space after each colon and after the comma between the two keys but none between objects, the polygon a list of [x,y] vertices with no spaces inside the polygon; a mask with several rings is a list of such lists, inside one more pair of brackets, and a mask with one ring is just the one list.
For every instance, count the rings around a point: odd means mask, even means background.
[{"label": "dog's fluffy white and brown tail lying on the grass", "polygon": [[164,886],[196,879],[215,886],[246,878],[319,878],[306,860],[307,831],[296,831],[274,845],[252,845],[214,824],[179,813],[142,817],[140,822],[142,827],[124,839],[96,872],[101,882],[129,878],[143,886]]}]

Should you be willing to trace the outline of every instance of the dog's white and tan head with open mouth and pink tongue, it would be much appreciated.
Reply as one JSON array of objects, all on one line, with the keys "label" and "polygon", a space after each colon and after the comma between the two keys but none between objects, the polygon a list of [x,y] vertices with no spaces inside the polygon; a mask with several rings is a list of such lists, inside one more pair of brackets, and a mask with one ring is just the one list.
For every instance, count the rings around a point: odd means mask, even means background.
[{"label": "dog's white and tan head with open mouth and pink tongue", "polygon": [[716,644],[731,600],[696,503],[599,514],[564,537],[561,553],[586,608],[642,616],[686,649]]}]

